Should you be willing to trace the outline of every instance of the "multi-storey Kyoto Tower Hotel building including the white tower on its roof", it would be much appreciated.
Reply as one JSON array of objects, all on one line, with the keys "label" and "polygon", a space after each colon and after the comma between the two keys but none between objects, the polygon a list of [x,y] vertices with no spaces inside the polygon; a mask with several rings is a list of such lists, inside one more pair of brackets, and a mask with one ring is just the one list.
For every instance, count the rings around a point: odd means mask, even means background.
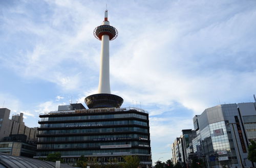
[{"label": "multi-storey Kyoto Tower Hotel building including the white tower on its roof", "polygon": [[60,152],[67,163],[76,163],[84,155],[106,164],[114,158],[122,162],[124,156],[136,155],[142,167],[151,166],[148,113],[139,108],[120,107],[123,99],[111,94],[109,42],[117,34],[105,11],[102,25],[94,30],[94,36],[101,40],[98,94],[84,99],[89,109],[76,103],[60,105],[57,111],[39,115],[35,158]]}]

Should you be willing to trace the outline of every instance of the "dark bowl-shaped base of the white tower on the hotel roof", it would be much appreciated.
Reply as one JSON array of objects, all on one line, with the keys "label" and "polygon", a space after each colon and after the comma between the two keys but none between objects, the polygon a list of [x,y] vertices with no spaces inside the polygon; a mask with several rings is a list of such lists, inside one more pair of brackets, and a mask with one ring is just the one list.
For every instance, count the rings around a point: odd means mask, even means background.
[{"label": "dark bowl-shaped base of the white tower on the hotel roof", "polygon": [[113,94],[94,94],[84,99],[88,108],[119,108],[123,103],[123,98]]}]

